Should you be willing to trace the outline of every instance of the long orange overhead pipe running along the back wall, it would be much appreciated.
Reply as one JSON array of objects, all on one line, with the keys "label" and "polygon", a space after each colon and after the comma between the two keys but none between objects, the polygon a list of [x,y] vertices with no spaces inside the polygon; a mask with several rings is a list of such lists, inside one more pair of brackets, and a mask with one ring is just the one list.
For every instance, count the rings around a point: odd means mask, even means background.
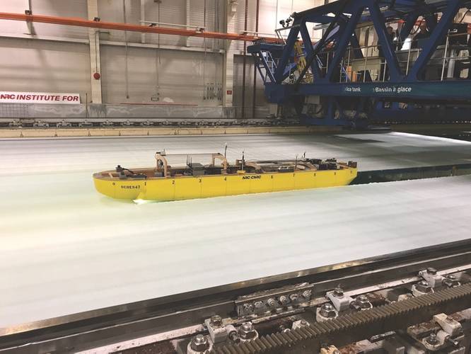
[{"label": "long orange overhead pipe running along the back wall", "polygon": [[105,30],[129,30],[130,32],[141,33],[159,33],[161,35],[182,35],[184,37],[202,37],[202,38],[216,38],[221,40],[246,40],[253,41],[257,39],[264,39],[267,42],[280,42],[278,38],[261,38],[253,35],[239,35],[237,33],[219,33],[207,32],[198,30],[183,30],[177,28],[146,26],[146,25],[132,25],[129,23],[114,23],[105,21],[91,21],[83,18],[74,17],[57,17],[45,15],[25,15],[23,13],[7,13],[0,12],[1,20],[13,21],[27,21],[27,22],[40,22],[51,23],[54,25],[75,25],[79,27],[88,28],[101,28]]}]

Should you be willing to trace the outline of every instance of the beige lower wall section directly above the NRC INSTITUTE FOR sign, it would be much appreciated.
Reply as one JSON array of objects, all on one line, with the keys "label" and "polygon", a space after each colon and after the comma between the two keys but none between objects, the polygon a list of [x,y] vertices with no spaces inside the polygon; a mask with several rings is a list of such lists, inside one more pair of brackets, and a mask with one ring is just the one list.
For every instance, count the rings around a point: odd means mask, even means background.
[{"label": "beige lower wall section directly above the NRC INSTITUTE FOR sign", "polygon": [[0,38],[0,91],[80,93],[90,97],[89,47]]}]

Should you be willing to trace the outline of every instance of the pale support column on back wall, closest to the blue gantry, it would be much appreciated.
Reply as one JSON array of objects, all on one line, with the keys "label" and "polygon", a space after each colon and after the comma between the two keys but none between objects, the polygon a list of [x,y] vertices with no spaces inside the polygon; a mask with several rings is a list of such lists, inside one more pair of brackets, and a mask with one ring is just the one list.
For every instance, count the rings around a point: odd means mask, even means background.
[{"label": "pale support column on back wall, closest to the blue gantry", "polygon": [[[227,0],[226,33],[236,32],[237,0]],[[223,106],[232,107],[234,93],[234,55],[236,50],[231,40],[226,40],[223,65]]]}]

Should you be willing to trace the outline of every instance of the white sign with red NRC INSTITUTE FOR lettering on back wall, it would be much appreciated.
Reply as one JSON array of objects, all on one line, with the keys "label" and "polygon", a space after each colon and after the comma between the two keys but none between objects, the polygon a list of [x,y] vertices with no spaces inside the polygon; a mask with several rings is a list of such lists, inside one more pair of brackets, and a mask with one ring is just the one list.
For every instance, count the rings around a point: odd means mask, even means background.
[{"label": "white sign with red NRC INSTITUTE FOR lettering on back wall", "polygon": [[0,91],[0,103],[52,103],[74,105],[80,103],[79,93]]}]

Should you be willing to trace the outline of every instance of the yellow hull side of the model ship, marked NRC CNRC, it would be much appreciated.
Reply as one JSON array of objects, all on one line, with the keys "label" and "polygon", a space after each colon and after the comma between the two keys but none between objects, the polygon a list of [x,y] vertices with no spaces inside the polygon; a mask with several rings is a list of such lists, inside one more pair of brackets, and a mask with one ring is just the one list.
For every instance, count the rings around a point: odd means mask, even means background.
[{"label": "yellow hull side of the model ship, marked NRC CNRC", "polygon": [[98,192],[128,200],[185,200],[283,190],[327,188],[349,185],[357,169],[296,171],[295,173],[244,173],[238,175],[182,176],[117,180],[93,175]]}]

